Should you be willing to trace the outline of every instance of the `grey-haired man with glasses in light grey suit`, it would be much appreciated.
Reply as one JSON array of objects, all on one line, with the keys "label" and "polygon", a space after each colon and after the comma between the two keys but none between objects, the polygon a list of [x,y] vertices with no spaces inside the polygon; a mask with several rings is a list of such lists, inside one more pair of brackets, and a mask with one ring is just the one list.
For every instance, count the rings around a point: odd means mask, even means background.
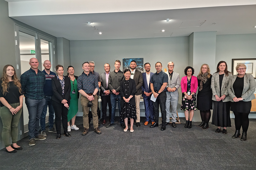
[{"label": "grey-haired man with glasses in light grey suit", "polygon": [[168,71],[165,72],[168,75],[167,91],[166,91],[166,125],[170,124],[170,103],[172,105],[172,126],[176,127],[177,106],[179,100],[178,88],[180,87],[180,74],[173,71],[174,63],[170,61],[168,64]]}]

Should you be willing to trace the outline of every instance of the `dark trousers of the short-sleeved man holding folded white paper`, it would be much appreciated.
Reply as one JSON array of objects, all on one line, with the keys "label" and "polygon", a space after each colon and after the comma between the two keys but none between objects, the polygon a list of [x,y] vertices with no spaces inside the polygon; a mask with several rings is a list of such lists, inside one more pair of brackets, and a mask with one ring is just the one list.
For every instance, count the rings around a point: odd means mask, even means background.
[{"label": "dark trousers of the short-sleeved man holding folded white paper", "polygon": [[[153,94],[152,94],[153,95]],[[158,97],[156,98],[156,101],[153,102],[154,111],[155,111],[155,123],[158,124],[159,119],[159,106],[161,109],[161,115],[162,115],[162,125],[165,125],[166,121],[166,110],[165,110],[165,101],[166,101],[166,92],[162,91]]]}]

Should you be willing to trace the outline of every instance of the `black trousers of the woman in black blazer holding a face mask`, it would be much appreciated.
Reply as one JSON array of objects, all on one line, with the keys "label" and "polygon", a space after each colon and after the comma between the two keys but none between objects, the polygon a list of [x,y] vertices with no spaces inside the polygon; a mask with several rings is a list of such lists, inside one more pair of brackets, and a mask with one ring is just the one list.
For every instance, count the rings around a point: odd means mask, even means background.
[{"label": "black trousers of the woman in black blazer holding a face mask", "polygon": [[[70,103],[68,102],[68,105]],[[52,106],[55,111],[55,126],[57,134],[61,134],[61,118],[64,134],[67,133],[67,112],[68,109],[62,103],[52,101]]]}]

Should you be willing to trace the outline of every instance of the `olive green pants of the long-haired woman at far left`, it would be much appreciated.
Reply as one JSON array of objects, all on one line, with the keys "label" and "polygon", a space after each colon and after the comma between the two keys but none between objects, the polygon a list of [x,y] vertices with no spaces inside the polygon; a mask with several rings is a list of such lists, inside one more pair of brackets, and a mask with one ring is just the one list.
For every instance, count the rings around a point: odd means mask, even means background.
[{"label": "olive green pants of the long-haired woman at far left", "polygon": [[[11,103],[10,104],[14,109],[20,106],[20,103]],[[0,117],[3,123],[2,139],[5,143],[5,147],[10,146],[10,130],[11,130],[11,139],[12,143],[17,143],[18,139],[18,124],[20,121],[20,115],[22,108],[17,114],[12,115],[11,111],[3,106],[0,108]]]}]

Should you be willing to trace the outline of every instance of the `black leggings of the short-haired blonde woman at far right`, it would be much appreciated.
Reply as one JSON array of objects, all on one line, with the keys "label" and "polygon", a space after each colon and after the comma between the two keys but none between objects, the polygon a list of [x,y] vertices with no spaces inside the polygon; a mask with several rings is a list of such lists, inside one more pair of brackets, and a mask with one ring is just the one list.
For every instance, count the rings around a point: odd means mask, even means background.
[{"label": "black leggings of the short-haired blonde woman at far right", "polygon": [[249,113],[234,112],[234,115],[236,130],[240,130],[242,126],[243,132],[247,132],[249,127]]}]

